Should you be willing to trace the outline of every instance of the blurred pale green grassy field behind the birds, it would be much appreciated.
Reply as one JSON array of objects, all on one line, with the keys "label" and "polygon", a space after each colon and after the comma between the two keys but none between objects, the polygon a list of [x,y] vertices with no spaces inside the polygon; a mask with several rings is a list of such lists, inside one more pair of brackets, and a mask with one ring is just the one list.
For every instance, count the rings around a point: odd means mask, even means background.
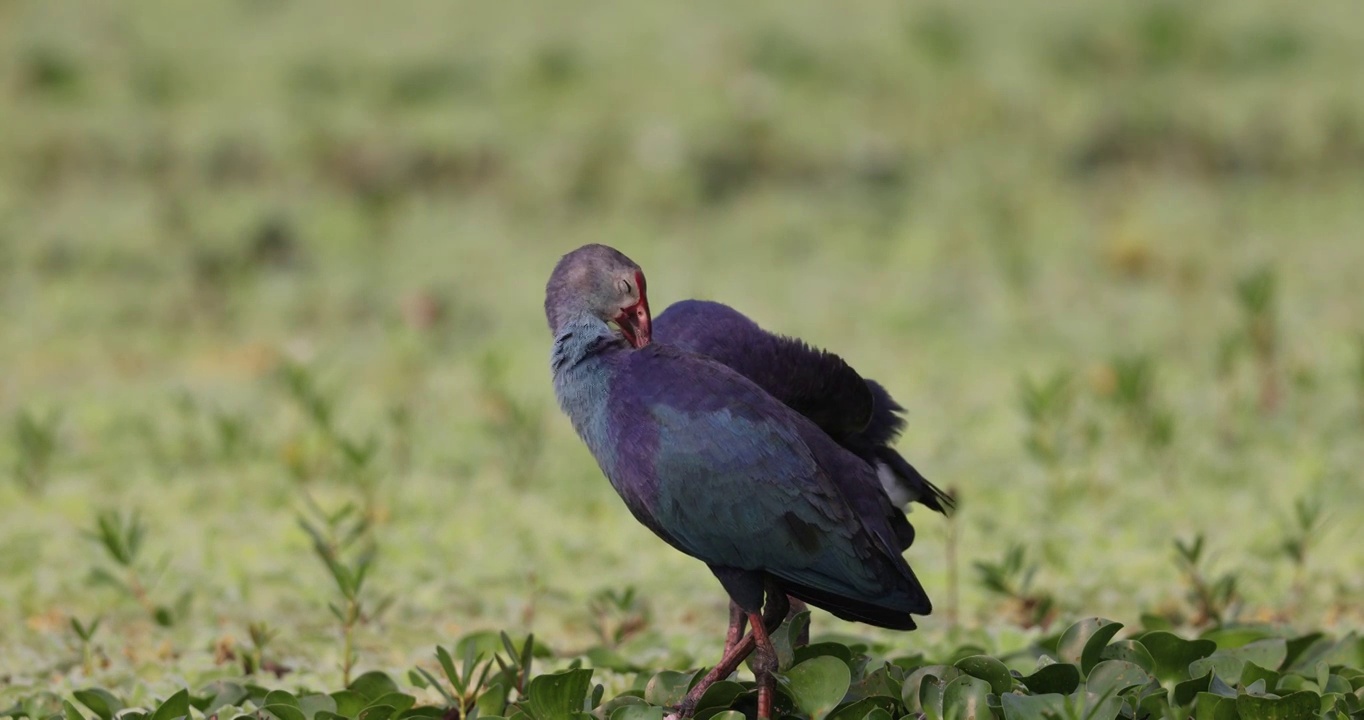
[{"label": "blurred pale green grassy field behind the birds", "polygon": [[1356,10],[0,0],[0,706],[231,675],[259,623],[338,685],[314,505],[370,520],[360,668],[636,614],[659,667],[717,652],[554,405],[589,241],[910,408],[962,498],[913,515],[938,611],[818,631],[1360,627]]}]

